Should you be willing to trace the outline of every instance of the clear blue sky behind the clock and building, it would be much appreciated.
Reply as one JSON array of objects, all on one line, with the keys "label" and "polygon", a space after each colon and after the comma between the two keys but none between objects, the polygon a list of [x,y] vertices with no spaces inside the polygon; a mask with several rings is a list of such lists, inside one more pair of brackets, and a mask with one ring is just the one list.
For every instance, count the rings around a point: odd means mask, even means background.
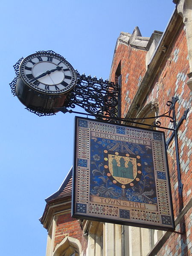
[{"label": "clear blue sky behind the clock and building", "polygon": [[79,73],[106,79],[119,33],[135,26],[146,37],[164,31],[174,9],[172,0],[1,1],[2,255],[45,255],[47,231],[38,218],[73,162],[74,115],[26,111],[9,87],[12,66],[22,56],[52,49]]}]

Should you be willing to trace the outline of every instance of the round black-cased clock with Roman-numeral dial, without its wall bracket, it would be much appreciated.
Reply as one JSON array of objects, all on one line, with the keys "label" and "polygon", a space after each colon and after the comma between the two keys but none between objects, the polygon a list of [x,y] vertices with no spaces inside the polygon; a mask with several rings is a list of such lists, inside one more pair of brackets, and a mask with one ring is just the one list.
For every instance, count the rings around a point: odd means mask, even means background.
[{"label": "round black-cased clock with Roman-numeral dial, without its wall bracket", "polygon": [[43,113],[58,112],[66,106],[77,74],[64,57],[53,51],[40,51],[20,62],[16,95],[27,108]]}]

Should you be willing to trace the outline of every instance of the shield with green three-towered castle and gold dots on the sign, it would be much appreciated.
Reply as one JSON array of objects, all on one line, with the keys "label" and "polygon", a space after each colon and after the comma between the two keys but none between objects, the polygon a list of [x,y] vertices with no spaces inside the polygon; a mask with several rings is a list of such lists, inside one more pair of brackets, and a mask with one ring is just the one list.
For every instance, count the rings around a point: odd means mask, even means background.
[{"label": "shield with green three-towered castle and gold dots on the sign", "polygon": [[104,168],[113,184],[128,189],[140,181],[141,157],[136,154],[104,150]]}]

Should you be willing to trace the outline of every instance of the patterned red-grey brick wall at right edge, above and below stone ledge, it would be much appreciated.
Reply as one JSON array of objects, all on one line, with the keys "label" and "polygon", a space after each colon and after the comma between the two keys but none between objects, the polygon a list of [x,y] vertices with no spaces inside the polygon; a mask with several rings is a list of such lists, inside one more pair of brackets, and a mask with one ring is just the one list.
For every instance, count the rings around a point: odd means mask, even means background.
[{"label": "patterned red-grey brick wall at right edge, above and below stone ledge", "polygon": [[[183,198],[178,195],[177,182],[177,165],[175,155],[175,142],[169,145],[168,162],[169,173],[172,189],[173,209],[175,219],[179,215],[180,208],[185,207],[191,198],[192,189],[192,93],[186,84],[189,73],[189,61],[186,44],[186,34],[184,28],[180,31],[175,43],[168,52],[166,63],[162,68],[159,76],[151,90],[146,103],[152,98],[159,99],[159,113],[169,110],[166,102],[172,99],[172,96],[178,96],[179,101],[176,103],[177,120],[183,116],[183,112],[190,108],[187,119],[183,121],[178,129],[178,145],[180,155],[181,180],[183,183]],[[161,118],[162,126],[172,127],[169,119]],[[166,131],[166,137],[169,137],[171,131]],[[172,233],[170,238],[163,245],[157,256],[189,256],[192,255],[192,210],[189,210],[176,226],[176,230],[181,232],[184,229],[186,233],[183,235]]]}]

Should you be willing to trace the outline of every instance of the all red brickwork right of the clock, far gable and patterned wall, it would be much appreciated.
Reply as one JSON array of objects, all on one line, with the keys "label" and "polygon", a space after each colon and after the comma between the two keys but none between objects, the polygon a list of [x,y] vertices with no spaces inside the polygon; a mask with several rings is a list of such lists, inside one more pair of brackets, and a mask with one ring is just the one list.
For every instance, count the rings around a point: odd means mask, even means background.
[{"label": "all red brickwork right of the clock, far gable and patterned wall", "polygon": [[[140,81],[145,75],[145,51],[131,48],[120,44],[116,50],[115,58],[113,59],[113,67],[111,73],[111,81],[115,79],[116,68],[121,62],[122,74],[122,117],[126,115],[128,107],[137,93]],[[159,113],[163,114],[169,111],[166,102],[172,100],[172,96],[178,96],[179,100],[176,103],[177,120],[183,116],[183,112],[190,108],[187,115],[187,120],[184,120],[178,129],[178,144],[180,155],[181,180],[183,183],[183,198],[178,195],[177,182],[177,165],[175,155],[174,139],[169,145],[168,162],[169,173],[172,189],[173,209],[175,219],[180,213],[180,210],[185,207],[191,198],[192,189],[192,92],[186,84],[189,73],[189,57],[186,43],[185,28],[182,27],[166,52],[166,61],[162,64],[160,72],[155,78],[155,82],[151,87],[151,91],[145,99],[143,107],[151,102],[152,99],[159,100]],[[172,123],[168,118],[160,119],[162,126],[173,128]],[[163,130],[165,131],[165,130]],[[166,138],[170,136],[172,131],[166,131]],[[177,255],[192,255],[192,210],[189,210],[177,225],[177,231],[183,231],[185,226],[186,233],[179,235],[172,233],[166,243],[161,247],[157,256],[177,256]]]}]

